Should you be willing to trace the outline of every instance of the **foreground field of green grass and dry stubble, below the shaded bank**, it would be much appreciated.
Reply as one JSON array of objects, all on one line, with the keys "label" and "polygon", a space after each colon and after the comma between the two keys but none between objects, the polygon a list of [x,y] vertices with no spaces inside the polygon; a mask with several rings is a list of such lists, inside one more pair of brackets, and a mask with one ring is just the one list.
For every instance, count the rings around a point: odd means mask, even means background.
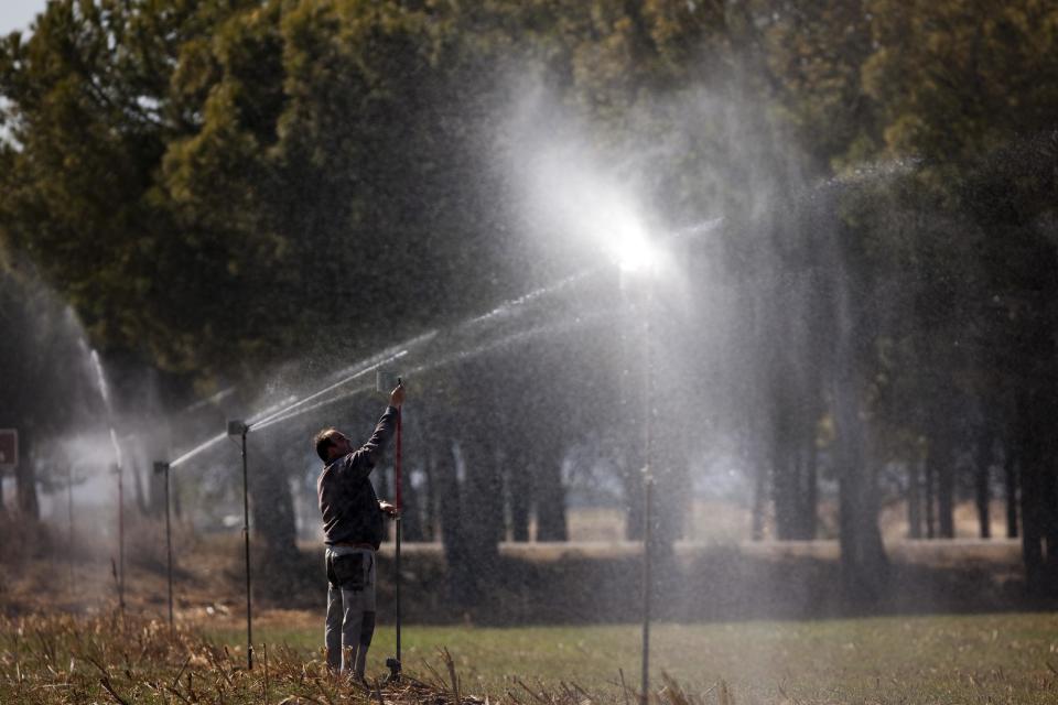
[{"label": "foreground field of green grass and dry stubble, below the shaded bank", "polygon": [[[406,672],[430,686],[370,694],[327,679],[310,621],[305,612],[262,615],[248,672],[233,621],[171,633],[158,620],[117,614],[0,620],[0,703],[636,702],[620,686],[622,671],[629,688],[639,685],[634,626],[409,626]],[[1055,614],[657,625],[652,633],[657,705],[1058,703]],[[391,652],[392,630],[382,628],[370,675],[382,675]]]}]

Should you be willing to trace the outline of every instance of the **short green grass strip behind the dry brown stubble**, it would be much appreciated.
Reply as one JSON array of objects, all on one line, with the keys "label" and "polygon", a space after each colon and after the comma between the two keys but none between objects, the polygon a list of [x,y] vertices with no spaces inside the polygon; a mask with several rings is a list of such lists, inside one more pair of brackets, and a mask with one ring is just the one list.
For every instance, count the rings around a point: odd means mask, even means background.
[{"label": "short green grass strip behind the dry brown stubble", "polygon": [[[245,641],[236,630],[208,636],[233,647]],[[619,670],[629,685],[639,684],[639,639],[633,626],[412,626],[402,641],[409,672],[430,673],[428,662],[443,673],[438,651],[444,647],[466,691],[510,692],[526,703],[533,698],[519,681],[546,692],[576,683],[620,702]],[[315,657],[321,634],[309,626],[271,626],[255,632],[255,641]],[[392,628],[380,628],[370,660],[379,674],[392,642]],[[651,657],[657,687],[662,671],[692,695],[715,694],[723,680],[739,702],[1058,702],[1054,614],[657,625]]]}]

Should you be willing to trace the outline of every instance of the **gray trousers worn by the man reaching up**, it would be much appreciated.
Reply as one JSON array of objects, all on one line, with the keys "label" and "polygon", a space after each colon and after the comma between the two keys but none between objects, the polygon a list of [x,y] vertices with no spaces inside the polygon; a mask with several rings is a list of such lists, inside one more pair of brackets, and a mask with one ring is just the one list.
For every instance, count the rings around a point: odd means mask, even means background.
[{"label": "gray trousers worn by the man reaching up", "polygon": [[[361,554],[361,579],[346,582],[337,587],[330,570],[338,556]],[[375,633],[375,552],[370,549],[327,546],[327,621],[324,641],[327,646],[327,665],[332,670],[357,679],[364,677],[367,650]],[[353,585],[358,589],[349,589]]]}]

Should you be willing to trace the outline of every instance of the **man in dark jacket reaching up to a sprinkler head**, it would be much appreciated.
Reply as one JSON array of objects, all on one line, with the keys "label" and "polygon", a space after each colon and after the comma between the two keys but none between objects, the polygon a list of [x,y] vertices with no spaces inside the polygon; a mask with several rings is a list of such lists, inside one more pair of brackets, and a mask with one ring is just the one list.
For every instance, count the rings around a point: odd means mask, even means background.
[{"label": "man in dark jacket reaching up to a sprinkler head", "polygon": [[352,671],[360,682],[375,633],[375,552],[386,532],[382,516],[397,516],[392,505],[378,500],[370,474],[393,435],[403,401],[404,388],[398,384],[375,433],[359,448],[335,429],[314,438],[324,463],[316,494],[327,558],[327,665],[346,675]]}]

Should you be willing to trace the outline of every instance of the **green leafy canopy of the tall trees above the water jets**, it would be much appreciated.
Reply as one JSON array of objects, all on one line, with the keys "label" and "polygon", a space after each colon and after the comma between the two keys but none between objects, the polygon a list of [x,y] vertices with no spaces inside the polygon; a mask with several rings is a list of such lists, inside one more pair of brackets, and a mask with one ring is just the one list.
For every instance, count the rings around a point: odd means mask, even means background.
[{"label": "green leafy canopy of the tall trees above the water jets", "polygon": [[[747,299],[778,268],[840,318],[853,281],[860,411],[917,455],[967,400],[1058,399],[1056,41],[1036,0],[57,0],[0,40],[0,242],[162,369],[347,360],[573,268],[492,161],[542,88],[661,225],[725,216]],[[813,322],[811,391],[784,351],[738,373],[771,366],[787,427],[832,414],[843,333]]]}]

